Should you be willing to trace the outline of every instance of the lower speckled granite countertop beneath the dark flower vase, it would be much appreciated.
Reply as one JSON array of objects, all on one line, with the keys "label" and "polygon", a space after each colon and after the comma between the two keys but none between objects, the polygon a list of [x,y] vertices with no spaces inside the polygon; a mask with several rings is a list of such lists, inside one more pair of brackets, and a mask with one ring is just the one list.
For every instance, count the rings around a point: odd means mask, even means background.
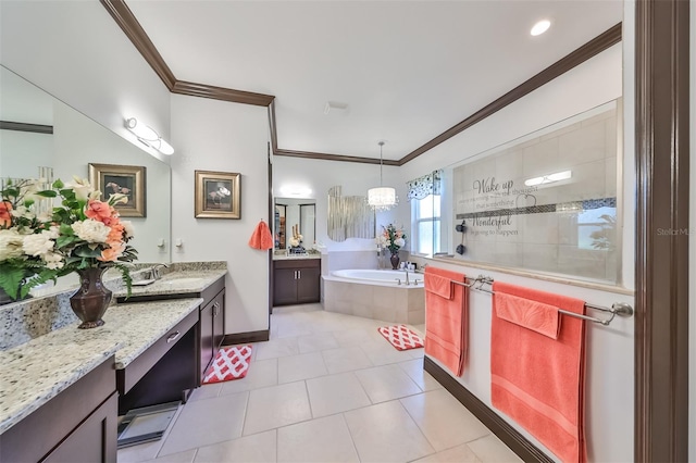
[{"label": "lower speckled granite countertop beneath the dark flower vase", "polygon": [[115,367],[124,368],[202,301],[115,304],[107,310],[103,326],[77,329],[76,324],[69,325],[0,351],[0,434],[114,353]]}]

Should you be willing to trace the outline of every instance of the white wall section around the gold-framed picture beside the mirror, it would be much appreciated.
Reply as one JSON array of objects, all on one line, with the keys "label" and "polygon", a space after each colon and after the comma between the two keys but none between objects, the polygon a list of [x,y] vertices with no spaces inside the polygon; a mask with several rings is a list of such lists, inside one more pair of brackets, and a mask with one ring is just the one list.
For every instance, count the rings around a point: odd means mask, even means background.
[{"label": "white wall section around the gold-framed picture beside the mirror", "polygon": [[[265,108],[172,96],[172,261],[227,261],[225,334],[269,328],[268,252],[248,241],[269,217]],[[241,174],[240,220],[195,218],[195,171]]]}]

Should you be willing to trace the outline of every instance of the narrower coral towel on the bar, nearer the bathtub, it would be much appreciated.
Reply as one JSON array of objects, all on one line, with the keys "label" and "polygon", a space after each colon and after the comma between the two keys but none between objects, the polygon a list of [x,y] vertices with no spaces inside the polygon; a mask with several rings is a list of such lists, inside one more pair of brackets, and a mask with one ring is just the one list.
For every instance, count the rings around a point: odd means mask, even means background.
[{"label": "narrower coral towel on the bar, nearer the bathtub", "polygon": [[461,273],[425,267],[425,353],[440,361],[455,376],[464,372],[469,331],[469,291]]}]

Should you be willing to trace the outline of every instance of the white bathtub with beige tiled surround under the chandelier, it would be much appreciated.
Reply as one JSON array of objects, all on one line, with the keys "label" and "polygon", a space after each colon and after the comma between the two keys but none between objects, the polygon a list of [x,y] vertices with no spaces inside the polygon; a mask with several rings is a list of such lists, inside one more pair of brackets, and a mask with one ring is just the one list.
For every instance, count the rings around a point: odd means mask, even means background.
[{"label": "white bathtub with beige tiled surround under the chandelier", "polygon": [[322,276],[324,310],[389,323],[425,323],[423,275],[409,273],[409,281],[407,286],[402,271],[335,271]]}]

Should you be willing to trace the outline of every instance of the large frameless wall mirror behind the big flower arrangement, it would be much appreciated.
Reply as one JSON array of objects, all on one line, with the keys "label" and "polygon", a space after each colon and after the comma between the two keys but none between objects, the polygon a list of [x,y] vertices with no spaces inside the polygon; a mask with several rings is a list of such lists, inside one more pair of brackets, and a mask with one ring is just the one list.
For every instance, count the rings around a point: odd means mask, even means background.
[{"label": "large frameless wall mirror behind the big flower arrangement", "polygon": [[[89,164],[145,167],[145,217],[126,217],[135,227],[139,262],[170,262],[170,166],[0,66],[0,178],[89,178]],[[46,170],[44,171],[46,172]],[[50,172],[50,171],[49,171]]]}]

